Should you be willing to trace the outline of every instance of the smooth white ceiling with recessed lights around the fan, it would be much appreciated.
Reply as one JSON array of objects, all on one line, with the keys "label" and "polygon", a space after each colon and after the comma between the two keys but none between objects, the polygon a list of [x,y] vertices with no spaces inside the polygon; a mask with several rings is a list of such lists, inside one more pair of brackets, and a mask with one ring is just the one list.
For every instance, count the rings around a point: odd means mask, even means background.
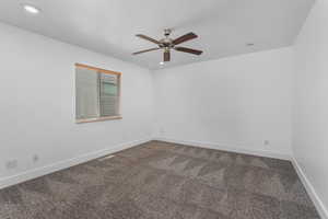
[{"label": "smooth white ceiling with recessed lights around the fan", "polygon": [[[150,69],[253,53],[293,43],[315,0],[1,0],[0,21]],[[23,3],[39,9],[27,14]],[[154,47],[137,38],[156,39],[195,32],[180,46],[203,50],[198,57],[173,51],[160,67],[162,51],[131,53]],[[254,43],[255,46],[246,46]]]}]

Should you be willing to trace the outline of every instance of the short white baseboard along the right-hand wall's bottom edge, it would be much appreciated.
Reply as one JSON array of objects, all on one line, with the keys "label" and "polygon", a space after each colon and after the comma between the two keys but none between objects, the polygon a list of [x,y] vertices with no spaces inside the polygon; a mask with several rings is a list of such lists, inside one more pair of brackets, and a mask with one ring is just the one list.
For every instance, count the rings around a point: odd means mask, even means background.
[{"label": "short white baseboard along the right-hand wall's bottom edge", "polygon": [[328,219],[328,209],[325,207],[324,203],[319,198],[318,194],[316,193],[314,186],[305,175],[305,172],[302,170],[301,165],[298,164],[295,158],[292,159],[292,163],[297,172],[298,177],[301,178],[307,194],[309,195],[311,199],[313,200],[317,211],[319,212],[321,219]]}]

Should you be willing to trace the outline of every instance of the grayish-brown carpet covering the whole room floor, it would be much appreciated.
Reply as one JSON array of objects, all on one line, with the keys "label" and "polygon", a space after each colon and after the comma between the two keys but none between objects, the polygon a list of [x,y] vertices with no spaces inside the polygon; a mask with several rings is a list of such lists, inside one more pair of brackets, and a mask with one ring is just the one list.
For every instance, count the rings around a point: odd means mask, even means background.
[{"label": "grayish-brown carpet covering the whole room floor", "polygon": [[0,191],[1,219],[317,219],[288,161],[159,141]]}]

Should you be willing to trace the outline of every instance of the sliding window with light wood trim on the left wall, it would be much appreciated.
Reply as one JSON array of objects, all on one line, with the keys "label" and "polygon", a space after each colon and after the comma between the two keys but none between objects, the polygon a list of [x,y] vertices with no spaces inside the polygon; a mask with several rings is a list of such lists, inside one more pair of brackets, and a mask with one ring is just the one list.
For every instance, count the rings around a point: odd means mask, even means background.
[{"label": "sliding window with light wood trim on the left wall", "polygon": [[75,119],[120,119],[120,72],[75,65]]}]

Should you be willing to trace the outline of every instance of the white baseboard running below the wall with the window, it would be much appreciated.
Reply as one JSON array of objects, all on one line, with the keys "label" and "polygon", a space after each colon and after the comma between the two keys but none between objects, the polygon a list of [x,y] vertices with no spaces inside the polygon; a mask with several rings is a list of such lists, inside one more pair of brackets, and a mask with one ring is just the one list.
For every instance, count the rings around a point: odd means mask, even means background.
[{"label": "white baseboard running below the wall with the window", "polygon": [[59,162],[56,162],[56,163],[52,163],[49,165],[28,170],[23,173],[2,177],[2,178],[0,178],[0,189],[11,186],[11,185],[23,183],[23,182],[32,180],[32,178],[47,175],[49,173],[54,173],[56,171],[60,171],[60,170],[63,170],[63,169],[67,169],[67,168],[73,166],[73,165],[78,165],[78,164],[84,163],[86,161],[97,159],[97,158],[101,158],[101,157],[104,157],[104,155],[107,155],[107,154],[110,154],[114,152],[118,152],[118,151],[141,145],[141,143],[148,142],[150,140],[152,140],[152,139],[148,138],[148,139],[134,140],[134,141],[130,141],[130,142],[126,142],[126,143],[120,143],[120,145],[112,147],[112,148],[94,151],[91,153],[79,155],[77,158],[72,158],[72,159],[65,160],[65,161],[59,161]]}]

